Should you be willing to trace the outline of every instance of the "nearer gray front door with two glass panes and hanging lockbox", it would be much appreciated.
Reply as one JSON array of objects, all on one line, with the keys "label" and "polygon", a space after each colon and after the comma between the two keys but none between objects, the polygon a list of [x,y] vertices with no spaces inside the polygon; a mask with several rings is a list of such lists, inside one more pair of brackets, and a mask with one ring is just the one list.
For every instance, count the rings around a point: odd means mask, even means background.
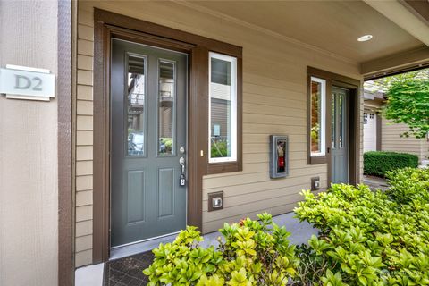
[{"label": "nearer gray front door with two glass panes and hanging lockbox", "polygon": [[187,55],[113,39],[111,247],[186,226]]}]

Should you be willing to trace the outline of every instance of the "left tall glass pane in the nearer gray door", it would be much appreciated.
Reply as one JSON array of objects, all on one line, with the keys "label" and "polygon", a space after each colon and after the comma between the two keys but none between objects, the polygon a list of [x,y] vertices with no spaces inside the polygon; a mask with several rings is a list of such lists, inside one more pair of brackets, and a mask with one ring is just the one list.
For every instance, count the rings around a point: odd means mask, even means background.
[{"label": "left tall glass pane in the nearer gray door", "polygon": [[128,55],[127,150],[128,156],[145,153],[145,58]]}]

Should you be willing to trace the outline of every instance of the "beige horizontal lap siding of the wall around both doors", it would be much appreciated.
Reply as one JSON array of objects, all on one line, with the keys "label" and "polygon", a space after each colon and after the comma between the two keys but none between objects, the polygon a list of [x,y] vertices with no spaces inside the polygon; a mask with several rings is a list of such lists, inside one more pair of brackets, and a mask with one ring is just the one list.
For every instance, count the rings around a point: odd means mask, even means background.
[{"label": "beige horizontal lap siding of the wall around both doors", "polygon": [[[188,6],[190,5],[190,6]],[[88,80],[92,71],[89,58],[93,56],[92,34],[93,7],[121,13],[144,21],[181,29],[194,34],[214,38],[243,47],[243,171],[206,176],[203,179],[203,231],[215,231],[226,222],[238,221],[268,211],[284,214],[297,206],[299,191],[310,188],[310,178],[319,176],[322,188],[327,187],[326,164],[307,164],[307,66],[345,76],[360,78],[357,63],[320,53],[317,48],[299,46],[285,38],[264,30],[230,21],[215,13],[194,9],[185,2],[79,2],[79,23],[82,38],[78,43],[81,59],[79,71],[82,80]],[[89,57],[89,58],[88,58]],[[78,85],[80,111],[88,111],[92,104],[92,81]],[[80,95],[80,97],[79,97]],[[83,104],[83,106],[82,106]],[[363,101],[362,101],[363,106]],[[363,110],[363,107],[362,107]],[[80,118],[78,132],[82,145],[77,147],[77,175],[92,177],[88,165],[92,162],[92,142],[87,133],[89,118]],[[91,117],[91,114],[81,114]],[[361,113],[362,116],[362,113]],[[362,128],[361,124],[361,128]],[[268,174],[270,134],[288,135],[290,139],[290,175],[286,179],[272,180]],[[360,142],[362,148],[362,141]],[[361,164],[362,165],[362,164]],[[80,171],[81,169],[81,171]],[[84,172],[85,171],[85,172]],[[88,183],[88,181],[87,181]],[[223,190],[225,201],[222,211],[207,212],[207,194]],[[82,201],[92,193],[91,189],[79,190]],[[78,196],[77,196],[78,197]],[[92,202],[81,208],[82,220],[77,223],[77,265],[90,263],[92,234]],[[91,213],[92,214],[92,213]],[[87,248],[88,249],[85,249]]]}]

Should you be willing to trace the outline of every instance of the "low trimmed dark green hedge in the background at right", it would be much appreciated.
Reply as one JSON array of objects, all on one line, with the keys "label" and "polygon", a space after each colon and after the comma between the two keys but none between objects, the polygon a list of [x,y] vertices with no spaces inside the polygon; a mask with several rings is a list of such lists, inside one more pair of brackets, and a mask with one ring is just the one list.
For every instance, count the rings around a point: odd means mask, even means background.
[{"label": "low trimmed dark green hedge in the background at right", "polygon": [[386,172],[406,167],[416,168],[416,155],[396,152],[370,151],[364,154],[364,173],[384,177]]}]

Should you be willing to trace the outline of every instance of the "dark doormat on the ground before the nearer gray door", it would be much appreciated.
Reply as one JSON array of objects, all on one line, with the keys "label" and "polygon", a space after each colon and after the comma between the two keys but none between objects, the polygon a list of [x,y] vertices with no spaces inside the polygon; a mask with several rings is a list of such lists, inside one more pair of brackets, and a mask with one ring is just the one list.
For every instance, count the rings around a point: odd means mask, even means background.
[{"label": "dark doormat on the ground before the nearer gray door", "polygon": [[148,279],[143,269],[152,264],[152,251],[123,257],[105,263],[104,286],[144,286]]}]

